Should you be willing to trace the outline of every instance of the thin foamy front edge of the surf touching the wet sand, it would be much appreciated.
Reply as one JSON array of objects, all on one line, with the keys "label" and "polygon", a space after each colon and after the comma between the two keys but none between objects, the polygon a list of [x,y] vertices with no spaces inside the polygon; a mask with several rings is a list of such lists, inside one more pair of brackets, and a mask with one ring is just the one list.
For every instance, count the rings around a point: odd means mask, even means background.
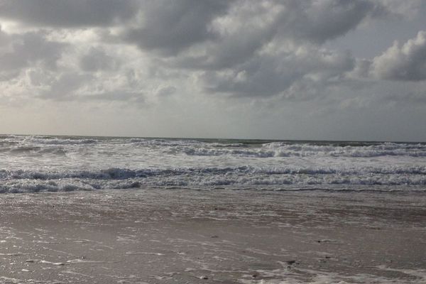
[{"label": "thin foamy front edge of the surf touching the wet sand", "polygon": [[[366,186],[367,185],[367,186]],[[175,182],[141,182],[138,180],[115,180],[109,182],[93,182],[65,179],[58,181],[46,180],[15,180],[13,182],[0,181],[0,193],[34,193],[34,192],[70,192],[94,190],[271,190],[271,191],[334,191],[334,192],[426,192],[426,181],[405,183],[383,182],[336,182],[322,184],[320,182],[258,182],[236,184],[232,181],[215,181],[193,183],[184,181]]]}]

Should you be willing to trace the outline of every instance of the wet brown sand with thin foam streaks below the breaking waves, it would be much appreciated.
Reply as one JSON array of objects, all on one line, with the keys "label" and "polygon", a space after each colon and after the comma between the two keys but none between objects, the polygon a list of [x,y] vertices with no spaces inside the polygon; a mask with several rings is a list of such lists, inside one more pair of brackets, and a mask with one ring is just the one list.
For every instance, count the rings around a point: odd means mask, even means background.
[{"label": "wet brown sand with thin foam streaks below the breaking waves", "polygon": [[425,193],[0,195],[0,283],[426,283]]}]

